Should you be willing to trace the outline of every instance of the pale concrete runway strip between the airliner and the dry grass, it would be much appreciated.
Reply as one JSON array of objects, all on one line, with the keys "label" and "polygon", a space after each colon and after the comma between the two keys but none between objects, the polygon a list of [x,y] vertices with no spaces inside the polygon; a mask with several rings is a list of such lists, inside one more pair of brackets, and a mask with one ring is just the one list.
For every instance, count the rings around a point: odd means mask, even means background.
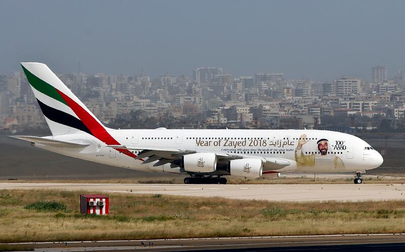
[{"label": "pale concrete runway strip between the airliner and the dry grass", "polygon": [[403,184],[89,184],[0,183],[0,189],[62,189],[104,193],[152,193],[271,201],[403,200]]}]

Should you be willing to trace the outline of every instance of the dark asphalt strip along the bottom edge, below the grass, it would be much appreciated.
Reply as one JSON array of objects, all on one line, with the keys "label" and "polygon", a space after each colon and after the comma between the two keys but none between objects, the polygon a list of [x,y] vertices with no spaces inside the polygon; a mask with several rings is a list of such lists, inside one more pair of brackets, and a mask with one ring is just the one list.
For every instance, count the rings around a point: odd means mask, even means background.
[{"label": "dark asphalt strip along the bottom edge, below the grass", "polygon": [[14,243],[34,251],[404,251],[405,234]]}]

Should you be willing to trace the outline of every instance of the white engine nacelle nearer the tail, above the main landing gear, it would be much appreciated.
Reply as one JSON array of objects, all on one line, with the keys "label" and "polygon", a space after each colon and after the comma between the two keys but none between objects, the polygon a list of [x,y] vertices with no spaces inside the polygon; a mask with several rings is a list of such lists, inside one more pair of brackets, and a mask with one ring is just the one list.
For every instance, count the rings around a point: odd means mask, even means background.
[{"label": "white engine nacelle nearer the tail, above the main landing gear", "polygon": [[215,153],[194,153],[183,156],[184,170],[187,172],[215,172],[217,155]]}]

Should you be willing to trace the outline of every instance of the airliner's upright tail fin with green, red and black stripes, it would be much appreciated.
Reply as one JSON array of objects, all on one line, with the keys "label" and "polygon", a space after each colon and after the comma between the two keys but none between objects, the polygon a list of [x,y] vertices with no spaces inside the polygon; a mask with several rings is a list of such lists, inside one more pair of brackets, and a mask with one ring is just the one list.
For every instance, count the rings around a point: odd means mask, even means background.
[{"label": "airliner's upright tail fin with green, red and black stripes", "polygon": [[53,135],[104,134],[104,125],[47,65],[23,62],[21,66]]}]

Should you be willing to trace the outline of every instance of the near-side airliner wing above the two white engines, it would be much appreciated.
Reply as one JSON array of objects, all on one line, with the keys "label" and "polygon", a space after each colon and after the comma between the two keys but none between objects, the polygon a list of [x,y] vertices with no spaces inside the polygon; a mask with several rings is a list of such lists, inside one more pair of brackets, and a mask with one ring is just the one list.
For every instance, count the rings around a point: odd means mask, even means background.
[{"label": "near-side airliner wing above the two white engines", "polygon": [[[144,159],[142,164],[151,162],[156,163],[153,166],[161,166],[164,164],[171,164],[171,168],[179,167],[182,157],[187,154],[193,154],[201,152],[196,149],[181,149],[173,147],[157,147],[157,146],[132,146],[132,145],[107,145],[106,147],[129,149],[129,150],[141,150],[135,159]],[[225,152],[210,152],[217,155],[218,165],[227,165],[229,161],[235,159],[261,159],[263,161],[263,171],[272,171],[284,168],[291,165],[289,160],[281,158],[264,158],[259,156],[252,156],[246,154],[235,154]]]}]

